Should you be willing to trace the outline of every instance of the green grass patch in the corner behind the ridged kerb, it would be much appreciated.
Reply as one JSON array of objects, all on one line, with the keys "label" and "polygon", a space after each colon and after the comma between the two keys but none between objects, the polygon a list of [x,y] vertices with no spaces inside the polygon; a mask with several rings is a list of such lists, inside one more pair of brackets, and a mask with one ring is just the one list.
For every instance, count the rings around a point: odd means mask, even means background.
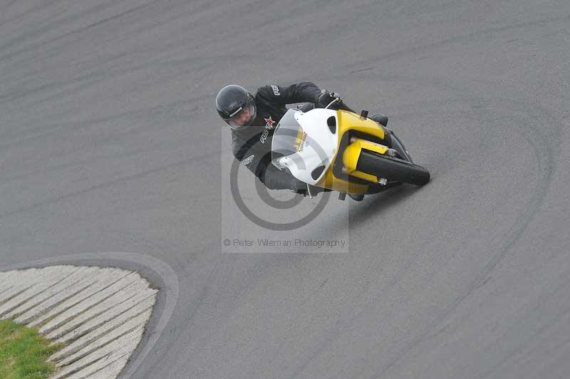
[{"label": "green grass patch in the corner behind the ridged kerb", "polygon": [[35,328],[26,328],[11,320],[0,321],[0,378],[48,378],[56,366],[46,360],[62,347],[48,346],[49,343]]}]

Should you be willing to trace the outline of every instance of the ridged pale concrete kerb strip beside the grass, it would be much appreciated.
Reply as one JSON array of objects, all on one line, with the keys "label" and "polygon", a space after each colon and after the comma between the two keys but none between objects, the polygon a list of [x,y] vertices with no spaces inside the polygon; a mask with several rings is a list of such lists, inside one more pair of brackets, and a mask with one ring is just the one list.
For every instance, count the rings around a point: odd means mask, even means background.
[{"label": "ridged pale concrete kerb strip beside the grass", "polygon": [[67,346],[52,379],[116,378],[137,348],[157,289],[134,271],[50,266],[0,272],[0,319]]}]

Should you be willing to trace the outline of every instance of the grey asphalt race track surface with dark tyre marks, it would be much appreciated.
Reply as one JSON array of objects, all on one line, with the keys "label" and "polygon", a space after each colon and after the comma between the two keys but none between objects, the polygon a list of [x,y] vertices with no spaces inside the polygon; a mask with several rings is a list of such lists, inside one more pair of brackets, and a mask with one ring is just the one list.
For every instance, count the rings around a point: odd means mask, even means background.
[{"label": "grey asphalt race track surface with dark tyre marks", "polygon": [[[569,28],[568,1],[4,0],[0,266],[170,266],[130,378],[568,378]],[[432,181],[284,232],[339,254],[228,254],[271,232],[227,214],[214,96],[301,80]]]}]

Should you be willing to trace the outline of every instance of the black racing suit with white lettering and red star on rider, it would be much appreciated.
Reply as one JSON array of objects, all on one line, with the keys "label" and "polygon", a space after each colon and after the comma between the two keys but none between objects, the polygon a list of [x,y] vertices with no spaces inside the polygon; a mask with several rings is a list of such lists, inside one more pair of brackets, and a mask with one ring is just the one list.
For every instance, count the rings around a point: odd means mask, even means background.
[{"label": "black racing suit with white lettering and red star on rider", "polygon": [[232,152],[270,190],[301,191],[306,185],[271,164],[271,137],[286,113],[286,104],[316,103],[321,90],[314,83],[266,85],[254,95],[257,115],[246,130],[232,130]]}]

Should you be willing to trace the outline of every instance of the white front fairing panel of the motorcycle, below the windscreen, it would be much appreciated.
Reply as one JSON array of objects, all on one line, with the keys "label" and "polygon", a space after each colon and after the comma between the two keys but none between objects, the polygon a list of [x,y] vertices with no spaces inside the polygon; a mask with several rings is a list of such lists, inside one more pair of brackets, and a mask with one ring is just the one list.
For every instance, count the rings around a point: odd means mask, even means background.
[{"label": "white front fairing panel of the motorcycle, below the windscreen", "polygon": [[[309,185],[316,185],[321,180],[336,155],[338,128],[334,128],[335,133],[331,133],[327,125],[327,120],[331,117],[335,118],[337,125],[336,110],[314,109],[306,113],[297,111],[295,120],[306,133],[302,150],[279,159],[279,165],[287,167],[294,177]],[[313,178],[311,173],[321,166],[324,167],[321,174]]]}]

